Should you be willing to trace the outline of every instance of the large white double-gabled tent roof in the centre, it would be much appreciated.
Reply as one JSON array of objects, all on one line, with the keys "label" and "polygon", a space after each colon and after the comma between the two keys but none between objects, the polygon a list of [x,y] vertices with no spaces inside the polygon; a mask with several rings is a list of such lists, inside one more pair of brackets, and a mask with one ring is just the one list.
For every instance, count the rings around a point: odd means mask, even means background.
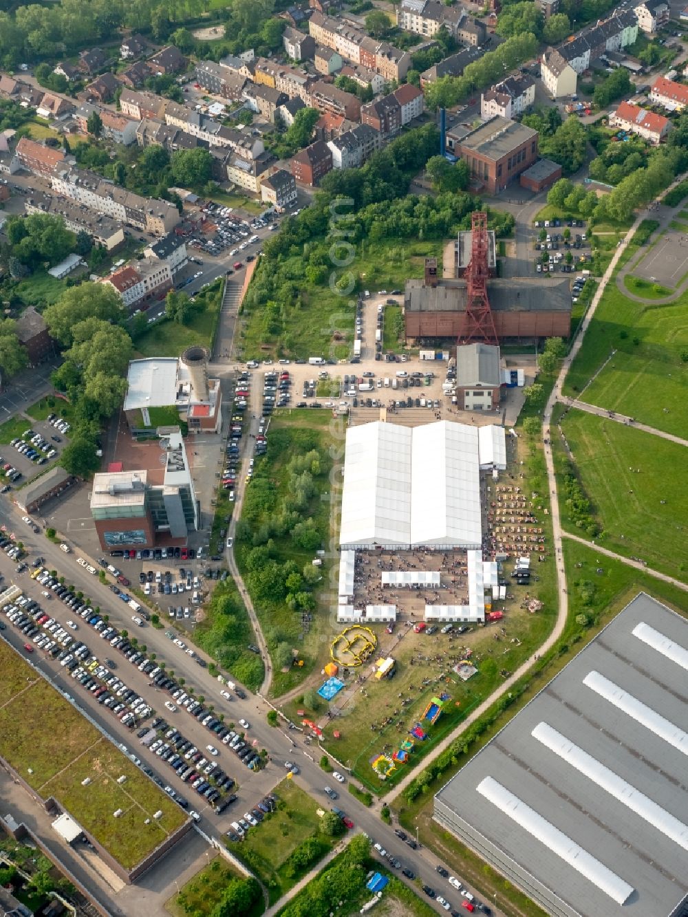
[{"label": "large white double-gabled tent roof in the centre", "polygon": [[478,431],[375,421],[347,431],[342,547],[479,547]]}]

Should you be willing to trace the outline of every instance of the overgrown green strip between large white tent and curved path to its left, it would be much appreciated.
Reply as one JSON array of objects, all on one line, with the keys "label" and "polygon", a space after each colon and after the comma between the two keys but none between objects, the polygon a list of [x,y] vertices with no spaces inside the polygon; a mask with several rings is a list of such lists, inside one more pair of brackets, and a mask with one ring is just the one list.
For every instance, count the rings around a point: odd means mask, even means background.
[{"label": "overgrown green strip between large white tent and curved path to its left", "polygon": [[[332,465],[330,449],[338,449],[344,436],[344,427],[335,421],[328,411],[302,409],[276,411],[272,414],[269,430],[270,446],[264,458],[257,458],[253,478],[247,486],[244,498],[241,524],[248,522],[252,533],[260,533],[265,525],[273,525],[276,517],[284,512],[284,504],[289,497],[290,474],[287,470],[288,458],[305,455],[316,448],[320,453],[320,473],[314,476],[316,491],[305,509],[300,511],[304,519],[312,519],[322,545],[327,547],[330,537],[330,497],[332,484],[329,481],[329,470]],[[290,526],[291,528],[291,526]],[[238,563],[242,576],[251,590],[251,573],[246,568],[246,558],[252,542],[242,541],[237,529]],[[262,542],[261,542],[262,543]],[[272,536],[271,558],[278,564],[288,560],[294,561],[297,570],[310,566],[315,552],[312,549],[297,547],[287,531],[284,535]],[[323,558],[320,568],[323,583],[329,581],[329,569],[332,562],[337,563],[337,556]],[[309,626],[302,624],[301,615],[291,611],[283,598],[277,600],[257,600],[253,594],[253,604],[268,647],[273,650],[280,642],[289,643],[298,650],[298,657],[304,660],[303,667],[292,667],[283,672],[273,666],[272,695],[279,697],[299,685],[313,670],[322,668],[328,658],[328,641],[331,639],[327,621],[331,596],[320,594],[314,589],[316,610],[312,613]]]}]

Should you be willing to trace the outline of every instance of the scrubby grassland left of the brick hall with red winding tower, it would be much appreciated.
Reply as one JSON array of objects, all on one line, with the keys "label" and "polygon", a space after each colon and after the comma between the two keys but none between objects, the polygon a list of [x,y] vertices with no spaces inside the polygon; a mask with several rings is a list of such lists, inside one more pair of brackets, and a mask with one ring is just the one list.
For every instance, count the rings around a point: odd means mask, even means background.
[{"label": "scrubby grassland left of the brick hall with red winding tower", "polygon": [[[409,277],[420,278],[426,257],[442,260],[441,241],[398,242],[385,239],[370,242],[365,239],[356,246],[356,256],[350,270],[357,279],[359,290],[403,289]],[[323,282],[309,282],[304,276],[302,258],[286,260],[298,277],[300,305],[279,308],[245,307],[245,322],[239,336],[240,359],[291,357],[308,359],[349,359],[351,355],[355,317],[355,290],[340,296],[329,289],[329,273]],[[263,260],[253,275],[252,283],[261,282],[261,271],[270,270]],[[341,276],[341,271],[337,276]]]}]

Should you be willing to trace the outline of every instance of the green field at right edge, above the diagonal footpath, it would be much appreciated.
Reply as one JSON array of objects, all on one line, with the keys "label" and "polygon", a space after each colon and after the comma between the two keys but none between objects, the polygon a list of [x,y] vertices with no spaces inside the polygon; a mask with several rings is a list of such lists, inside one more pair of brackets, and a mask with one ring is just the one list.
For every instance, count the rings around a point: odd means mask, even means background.
[{"label": "green field at right edge, above the diagonal footpath", "polygon": [[[613,349],[613,359],[586,388]],[[685,436],[688,363],[684,355],[688,355],[688,293],[668,305],[642,304],[621,293],[612,278],[573,360],[564,392],[577,397],[584,390],[583,401]]]}]

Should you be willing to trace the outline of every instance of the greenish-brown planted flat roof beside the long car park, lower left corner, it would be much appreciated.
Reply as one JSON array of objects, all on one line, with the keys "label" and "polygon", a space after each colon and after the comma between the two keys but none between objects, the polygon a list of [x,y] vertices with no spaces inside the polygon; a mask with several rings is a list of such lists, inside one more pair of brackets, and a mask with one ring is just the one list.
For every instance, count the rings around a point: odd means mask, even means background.
[{"label": "greenish-brown planted flat roof beside the long car park, lower left corner", "polygon": [[[4,642],[0,698],[0,757],[42,799],[54,796],[123,867],[134,867],[186,821],[179,806]],[[161,818],[153,819],[158,811]]]}]

